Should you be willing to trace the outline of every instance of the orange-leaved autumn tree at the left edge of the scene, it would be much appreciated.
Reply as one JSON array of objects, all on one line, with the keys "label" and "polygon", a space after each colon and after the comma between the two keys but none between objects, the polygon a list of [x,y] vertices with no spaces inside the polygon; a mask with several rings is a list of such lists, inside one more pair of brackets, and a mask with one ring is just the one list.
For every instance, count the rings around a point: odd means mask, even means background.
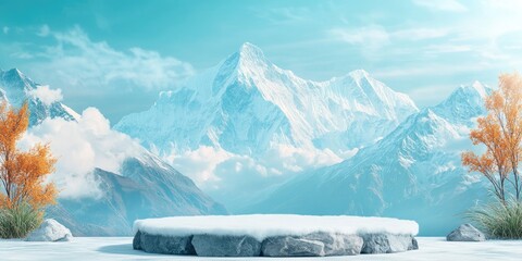
[{"label": "orange-leaved autumn tree at the left edge of the scene", "polygon": [[0,208],[16,209],[29,204],[35,210],[54,203],[57,189],[46,183],[54,171],[55,159],[49,146],[36,145],[28,151],[16,148],[28,127],[28,109],[20,110],[0,104]]}]

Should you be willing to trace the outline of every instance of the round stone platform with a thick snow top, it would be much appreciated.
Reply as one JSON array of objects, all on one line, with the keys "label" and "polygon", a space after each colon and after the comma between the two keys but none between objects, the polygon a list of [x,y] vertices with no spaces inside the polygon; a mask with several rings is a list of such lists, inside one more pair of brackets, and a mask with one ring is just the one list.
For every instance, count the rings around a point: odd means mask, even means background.
[{"label": "round stone platform with a thick snow top", "polygon": [[325,257],[418,249],[413,221],[310,215],[138,220],[134,249],[201,257]]}]

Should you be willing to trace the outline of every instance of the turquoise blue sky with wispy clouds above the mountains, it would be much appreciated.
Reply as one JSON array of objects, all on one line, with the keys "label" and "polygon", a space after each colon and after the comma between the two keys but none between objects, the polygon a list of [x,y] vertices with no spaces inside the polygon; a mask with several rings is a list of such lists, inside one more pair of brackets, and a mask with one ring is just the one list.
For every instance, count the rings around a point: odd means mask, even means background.
[{"label": "turquoise blue sky with wispy clouds above the mountains", "polygon": [[249,41],[315,80],[364,69],[419,107],[522,67],[522,1],[0,0],[0,67],[114,124]]}]

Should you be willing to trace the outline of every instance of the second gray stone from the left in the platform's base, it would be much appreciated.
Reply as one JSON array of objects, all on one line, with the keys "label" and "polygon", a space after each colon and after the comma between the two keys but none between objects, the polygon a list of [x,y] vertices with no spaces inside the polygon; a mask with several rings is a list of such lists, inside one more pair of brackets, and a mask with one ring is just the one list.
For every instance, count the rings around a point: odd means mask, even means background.
[{"label": "second gray stone from the left in the platform's base", "polygon": [[194,235],[192,246],[200,257],[259,257],[261,243],[250,236]]}]

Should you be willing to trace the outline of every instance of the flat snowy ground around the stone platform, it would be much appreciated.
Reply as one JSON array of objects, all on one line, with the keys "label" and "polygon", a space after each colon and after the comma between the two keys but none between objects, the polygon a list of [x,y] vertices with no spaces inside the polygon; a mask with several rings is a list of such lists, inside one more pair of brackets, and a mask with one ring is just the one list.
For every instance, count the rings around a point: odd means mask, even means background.
[{"label": "flat snowy ground around the stone platform", "polygon": [[[391,254],[289,260],[521,260],[522,240],[448,243],[444,238],[419,237],[420,250]],[[0,240],[0,260],[246,260],[245,258],[201,258],[150,254],[133,250],[130,237],[77,237],[70,243]],[[251,258],[251,260],[279,260]]]}]

